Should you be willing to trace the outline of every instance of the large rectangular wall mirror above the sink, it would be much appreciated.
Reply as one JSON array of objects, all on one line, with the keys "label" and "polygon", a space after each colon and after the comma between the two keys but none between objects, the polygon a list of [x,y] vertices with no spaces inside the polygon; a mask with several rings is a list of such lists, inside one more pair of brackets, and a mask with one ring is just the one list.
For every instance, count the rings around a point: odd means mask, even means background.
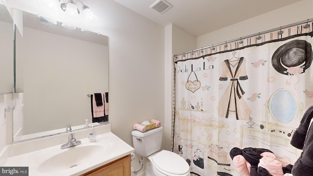
[{"label": "large rectangular wall mirror above the sink", "polygon": [[22,14],[23,29],[15,28],[13,141],[92,123],[88,95],[109,89],[108,36]]}]

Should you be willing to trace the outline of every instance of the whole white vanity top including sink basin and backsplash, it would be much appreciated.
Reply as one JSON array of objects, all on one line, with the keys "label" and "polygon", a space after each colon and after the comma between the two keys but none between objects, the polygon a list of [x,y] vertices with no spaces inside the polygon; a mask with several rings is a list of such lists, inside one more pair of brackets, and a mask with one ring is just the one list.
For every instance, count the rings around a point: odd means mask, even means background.
[{"label": "whole white vanity top including sink basin and backsplash", "polygon": [[[29,176],[81,176],[93,169],[131,154],[134,148],[111,132],[111,125],[96,127],[97,140],[89,142],[90,129],[77,131],[80,145],[61,149],[68,134],[10,145],[1,157],[7,167],[28,167]],[[54,145],[54,143],[58,143]],[[0,162],[0,163],[1,163]]]}]

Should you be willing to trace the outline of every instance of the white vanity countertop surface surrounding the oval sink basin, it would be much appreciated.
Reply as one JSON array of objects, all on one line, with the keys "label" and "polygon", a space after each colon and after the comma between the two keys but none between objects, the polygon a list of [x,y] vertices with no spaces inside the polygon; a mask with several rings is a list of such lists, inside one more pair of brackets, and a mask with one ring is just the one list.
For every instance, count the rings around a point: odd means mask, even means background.
[{"label": "white vanity countertop surface surrounding the oval sink basin", "polygon": [[[22,153],[18,155],[11,154],[6,159],[4,166],[28,167],[29,176],[79,176],[134,152],[133,147],[128,145],[112,132],[98,134],[96,142],[89,142],[88,138],[82,138],[77,140],[81,140],[82,144],[67,149],[61,149],[61,145],[55,145],[28,153]],[[96,153],[92,153],[92,158],[90,157],[87,160],[81,159],[81,161],[77,161],[78,163],[75,167],[69,168],[70,166],[67,166],[67,163],[65,162],[65,160],[68,158],[64,158],[64,160],[60,159],[60,162],[63,162],[64,167],[66,168],[64,170],[59,169],[59,171],[45,171],[40,168],[40,165],[50,157],[67,152],[68,150],[73,150],[74,148],[92,145],[97,145],[101,147],[103,146],[103,148],[97,148],[97,151],[92,151]],[[75,163],[75,161],[73,162]]]}]

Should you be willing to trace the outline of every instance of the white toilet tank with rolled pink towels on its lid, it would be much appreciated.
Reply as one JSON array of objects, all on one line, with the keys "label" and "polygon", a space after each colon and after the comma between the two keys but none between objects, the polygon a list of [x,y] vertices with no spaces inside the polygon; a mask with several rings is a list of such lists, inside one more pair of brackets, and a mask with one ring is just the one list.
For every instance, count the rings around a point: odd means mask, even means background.
[{"label": "white toilet tank with rolled pink towels on its lid", "polygon": [[146,132],[132,131],[135,153],[149,156],[161,149],[163,128],[157,127]]}]

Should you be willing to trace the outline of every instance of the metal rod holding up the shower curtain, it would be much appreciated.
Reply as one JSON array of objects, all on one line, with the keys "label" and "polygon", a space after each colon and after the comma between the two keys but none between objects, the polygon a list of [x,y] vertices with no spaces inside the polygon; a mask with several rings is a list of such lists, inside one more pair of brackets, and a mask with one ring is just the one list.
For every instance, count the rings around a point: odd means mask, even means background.
[{"label": "metal rod holding up the shower curtain", "polygon": [[258,33],[255,33],[255,34],[251,34],[251,35],[248,35],[248,36],[245,36],[245,37],[240,37],[240,38],[237,38],[237,39],[234,39],[234,40],[230,40],[230,41],[226,41],[226,42],[222,42],[222,43],[219,43],[219,44],[212,44],[210,46],[201,47],[201,48],[198,48],[198,49],[195,49],[195,50],[191,50],[191,51],[187,51],[187,52],[183,52],[183,53],[179,53],[179,54],[174,54],[174,57],[182,55],[182,54],[188,54],[188,53],[191,53],[191,52],[200,51],[202,49],[207,49],[207,48],[210,48],[210,47],[213,47],[213,46],[218,46],[218,45],[221,45],[221,44],[232,43],[232,42],[235,42],[235,41],[238,41],[238,40],[247,39],[247,38],[250,38],[250,37],[257,36],[257,35],[267,34],[269,32],[285,29],[285,28],[292,27],[292,26],[295,26],[295,25],[303,24],[305,22],[307,22],[307,23],[308,22],[313,22],[313,18],[312,19],[308,19],[308,20],[304,20],[304,21],[301,21],[301,22],[295,22],[295,23],[292,23],[292,24],[276,27],[274,29],[266,30],[266,31],[263,31],[263,32],[258,32]]}]

